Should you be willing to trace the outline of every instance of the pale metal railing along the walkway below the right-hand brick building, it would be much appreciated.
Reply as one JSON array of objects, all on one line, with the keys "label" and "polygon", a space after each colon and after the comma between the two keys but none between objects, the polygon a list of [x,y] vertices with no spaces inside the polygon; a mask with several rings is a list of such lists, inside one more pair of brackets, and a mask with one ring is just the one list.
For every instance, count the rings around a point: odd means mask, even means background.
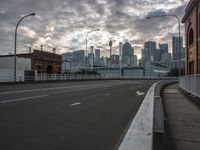
[{"label": "pale metal railing along the walkway below the right-hand brick building", "polygon": [[200,75],[180,77],[179,87],[196,97],[200,97]]}]

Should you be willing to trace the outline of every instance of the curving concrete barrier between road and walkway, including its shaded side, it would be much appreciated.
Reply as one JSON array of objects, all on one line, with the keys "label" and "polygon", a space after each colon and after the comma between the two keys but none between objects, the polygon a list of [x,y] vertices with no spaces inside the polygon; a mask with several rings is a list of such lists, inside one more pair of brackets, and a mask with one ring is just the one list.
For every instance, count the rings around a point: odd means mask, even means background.
[{"label": "curving concrete barrier between road and walkway, including its shaded side", "polygon": [[160,92],[163,86],[174,82],[176,81],[159,81],[151,86],[118,150],[153,149],[153,133],[164,133]]}]

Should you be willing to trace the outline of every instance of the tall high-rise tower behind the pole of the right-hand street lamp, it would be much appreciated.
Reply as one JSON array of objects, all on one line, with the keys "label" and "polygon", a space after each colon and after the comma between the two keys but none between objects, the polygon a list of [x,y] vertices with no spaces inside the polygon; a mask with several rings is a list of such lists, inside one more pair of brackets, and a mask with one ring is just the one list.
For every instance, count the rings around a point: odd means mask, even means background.
[{"label": "tall high-rise tower behind the pole of the right-hand street lamp", "polygon": [[172,37],[172,56],[173,60],[181,58],[183,50],[183,37],[180,37],[180,52],[179,52],[179,37]]}]

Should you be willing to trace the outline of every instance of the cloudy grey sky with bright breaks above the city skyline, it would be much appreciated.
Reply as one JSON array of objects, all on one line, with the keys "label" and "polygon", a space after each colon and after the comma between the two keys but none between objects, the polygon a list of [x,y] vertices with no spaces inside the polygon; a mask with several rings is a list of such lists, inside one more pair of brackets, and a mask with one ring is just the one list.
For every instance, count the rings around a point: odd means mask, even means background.
[{"label": "cloudy grey sky with bright breaks above the city skyline", "polygon": [[[86,33],[90,33],[88,47],[101,49],[109,55],[109,40],[118,53],[119,42],[129,41],[140,57],[145,41],[167,42],[177,35],[175,18],[146,16],[172,13],[183,17],[189,0],[0,0],[0,54],[13,53],[14,30],[21,17],[34,12],[36,16],[23,20],[18,29],[18,52],[28,47],[57,53],[85,49]],[[184,26],[181,32],[184,33]]]}]

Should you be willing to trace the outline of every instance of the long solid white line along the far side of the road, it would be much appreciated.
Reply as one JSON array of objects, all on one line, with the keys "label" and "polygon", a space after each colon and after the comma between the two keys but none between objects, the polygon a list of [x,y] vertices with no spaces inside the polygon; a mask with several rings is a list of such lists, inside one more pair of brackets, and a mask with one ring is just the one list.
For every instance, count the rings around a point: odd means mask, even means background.
[{"label": "long solid white line along the far side of the road", "polygon": [[97,85],[109,85],[110,83],[103,83],[103,84],[91,84],[91,85],[76,85],[76,86],[59,86],[59,87],[52,87],[52,88],[44,88],[44,89],[30,89],[30,90],[21,90],[21,91],[8,91],[8,92],[1,92],[0,95],[3,94],[15,94],[15,93],[24,93],[24,92],[33,92],[33,91],[46,91],[46,90],[54,90],[54,89],[68,89],[74,87],[86,87],[86,86],[97,86]]}]

